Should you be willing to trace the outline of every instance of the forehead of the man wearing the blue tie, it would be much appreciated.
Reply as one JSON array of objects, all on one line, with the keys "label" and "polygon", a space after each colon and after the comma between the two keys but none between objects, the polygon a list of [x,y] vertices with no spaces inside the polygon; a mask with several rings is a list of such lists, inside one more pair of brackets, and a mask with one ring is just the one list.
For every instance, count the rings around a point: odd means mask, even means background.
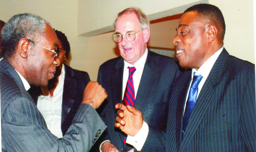
[{"label": "forehead of the man wearing the blue tie", "polygon": [[197,11],[186,12],[180,18],[180,21],[176,30],[182,27],[193,28],[193,27],[199,26],[199,24],[201,24],[201,22],[199,19],[199,15],[197,15]]}]

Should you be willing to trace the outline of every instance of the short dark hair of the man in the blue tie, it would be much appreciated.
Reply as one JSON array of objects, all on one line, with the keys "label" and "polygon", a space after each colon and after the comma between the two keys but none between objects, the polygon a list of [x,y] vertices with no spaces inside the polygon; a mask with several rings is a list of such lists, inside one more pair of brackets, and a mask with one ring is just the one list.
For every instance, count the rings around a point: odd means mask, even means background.
[{"label": "short dark hair of the man in the blue tie", "polygon": [[226,31],[226,24],[224,21],[224,16],[218,7],[211,4],[196,4],[185,10],[186,12],[197,11],[204,19],[210,21],[210,23],[215,24],[218,29],[219,38],[224,40],[224,35]]}]

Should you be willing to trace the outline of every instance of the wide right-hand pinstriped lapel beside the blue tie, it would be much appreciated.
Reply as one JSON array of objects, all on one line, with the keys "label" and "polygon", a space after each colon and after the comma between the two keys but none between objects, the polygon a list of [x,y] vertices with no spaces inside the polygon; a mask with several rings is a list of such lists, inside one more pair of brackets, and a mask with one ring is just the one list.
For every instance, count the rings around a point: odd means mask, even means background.
[{"label": "wide right-hand pinstriped lapel beside the blue tie", "polygon": [[197,101],[190,116],[190,122],[187,126],[186,134],[182,141],[180,151],[185,151],[187,149],[187,146],[196,133],[197,128],[208,109],[208,105],[210,102],[212,102],[214,86],[221,80],[224,64],[226,63],[228,57],[229,54],[227,53],[226,49],[223,49],[215,64],[213,65],[213,68],[208,75],[208,78],[205,81],[199,96],[197,97]]}]

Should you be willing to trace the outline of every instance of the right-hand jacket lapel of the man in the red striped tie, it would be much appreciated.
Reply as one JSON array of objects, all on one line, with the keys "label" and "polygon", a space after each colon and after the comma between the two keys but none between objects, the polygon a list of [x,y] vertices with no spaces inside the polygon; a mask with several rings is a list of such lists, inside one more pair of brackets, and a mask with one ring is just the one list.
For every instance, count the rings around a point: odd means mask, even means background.
[{"label": "right-hand jacket lapel of the man in the red striped tie", "polygon": [[143,74],[141,75],[140,85],[135,99],[134,107],[139,111],[144,112],[146,103],[149,101],[151,92],[154,90],[155,83],[157,82],[158,73],[160,69],[157,69],[155,58],[152,57],[150,51],[148,51],[148,57],[144,65]]}]

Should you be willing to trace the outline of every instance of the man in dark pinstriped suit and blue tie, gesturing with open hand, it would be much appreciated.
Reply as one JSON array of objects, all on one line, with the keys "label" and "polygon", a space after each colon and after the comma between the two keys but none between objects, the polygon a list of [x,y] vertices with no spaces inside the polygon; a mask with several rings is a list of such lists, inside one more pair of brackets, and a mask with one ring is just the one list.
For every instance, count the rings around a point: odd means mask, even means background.
[{"label": "man in dark pinstriped suit and blue tie, gesturing with open hand", "polygon": [[[221,10],[214,5],[197,4],[185,10],[173,43],[180,66],[192,70],[174,83],[166,134],[149,128],[143,150],[256,151],[255,66],[224,49],[225,29]],[[200,81],[197,87],[194,79]],[[138,129],[129,125],[141,125],[140,111],[123,105],[116,108],[124,110],[119,110],[116,127],[136,133]],[[132,117],[127,116],[129,111]]]}]

